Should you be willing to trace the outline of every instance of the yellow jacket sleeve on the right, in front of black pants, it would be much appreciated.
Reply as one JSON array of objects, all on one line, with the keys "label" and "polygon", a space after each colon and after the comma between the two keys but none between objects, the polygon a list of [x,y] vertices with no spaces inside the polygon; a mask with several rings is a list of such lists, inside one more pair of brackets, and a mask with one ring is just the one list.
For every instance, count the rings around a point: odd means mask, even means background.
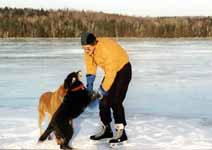
[{"label": "yellow jacket sleeve on the right, in front of black pants", "polygon": [[113,62],[112,58],[109,55],[105,59],[104,72],[105,72],[105,78],[102,83],[102,88],[103,88],[103,90],[108,92],[108,90],[111,88],[111,86],[115,80],[116,74],[117,74],[116,63]]}]

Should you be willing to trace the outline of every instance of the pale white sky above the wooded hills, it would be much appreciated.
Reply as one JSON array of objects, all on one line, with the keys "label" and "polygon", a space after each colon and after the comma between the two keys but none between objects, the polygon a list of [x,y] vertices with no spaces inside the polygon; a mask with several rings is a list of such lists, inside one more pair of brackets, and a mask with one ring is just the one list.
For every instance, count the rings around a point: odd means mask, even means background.
[{"label": "pale white sky above the wooded hills", "polygon": [[0,0],[0,7],[92,10],[133,16],[212,16],[212,0]]}]

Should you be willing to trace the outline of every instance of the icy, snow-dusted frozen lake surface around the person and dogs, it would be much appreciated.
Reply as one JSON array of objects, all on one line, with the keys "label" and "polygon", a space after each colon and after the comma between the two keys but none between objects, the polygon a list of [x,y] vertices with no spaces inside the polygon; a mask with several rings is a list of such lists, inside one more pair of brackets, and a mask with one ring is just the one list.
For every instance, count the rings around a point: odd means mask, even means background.
[{"label": "icy, snow-dusted frozen lake surface around the person and dogs", "polygon": [[[122,149],[212,149],[212,40],[117,39],[129,54],[133,78],[125,100],[129,142]],[[39,96],[72,71],[85,75],[79,39],[0,40],[0,149],[36,145]],[[98,70],[95,87],[103,77]],[[83,79],[85,81],[85,78]],[[98,110],[76,119],[73,146],[107,149],[89,136]]]}]

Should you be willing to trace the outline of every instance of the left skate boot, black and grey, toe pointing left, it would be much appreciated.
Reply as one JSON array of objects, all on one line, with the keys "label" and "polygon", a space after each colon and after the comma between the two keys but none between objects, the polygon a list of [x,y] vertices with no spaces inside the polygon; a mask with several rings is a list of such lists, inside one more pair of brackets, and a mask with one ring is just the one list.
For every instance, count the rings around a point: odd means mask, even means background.
[{"label": "left skate boot, black and grey, toe pointing left", "polygon": [[110,124],[108,124],[108,125],[103,125],[101,131],[97,133],[96,135],[90,136],[90,139],[101,140],[101,139],[112,138],[112,137],[113,137],[113,132],[111,130]]}]

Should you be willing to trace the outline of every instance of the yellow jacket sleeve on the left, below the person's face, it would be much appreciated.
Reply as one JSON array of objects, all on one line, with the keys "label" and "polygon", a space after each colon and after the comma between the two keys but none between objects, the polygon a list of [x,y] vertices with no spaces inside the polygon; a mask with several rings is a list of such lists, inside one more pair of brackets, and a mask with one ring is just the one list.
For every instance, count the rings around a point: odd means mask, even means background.
[{"label": "yellow jacket sleeve on the left, below the person's face", "polygon": [[96,75],[97,65],[94,62],[94,59],[91,56],[89,56],[87,53],[84,53],[84,60],[86,65],[86,74]]}]

